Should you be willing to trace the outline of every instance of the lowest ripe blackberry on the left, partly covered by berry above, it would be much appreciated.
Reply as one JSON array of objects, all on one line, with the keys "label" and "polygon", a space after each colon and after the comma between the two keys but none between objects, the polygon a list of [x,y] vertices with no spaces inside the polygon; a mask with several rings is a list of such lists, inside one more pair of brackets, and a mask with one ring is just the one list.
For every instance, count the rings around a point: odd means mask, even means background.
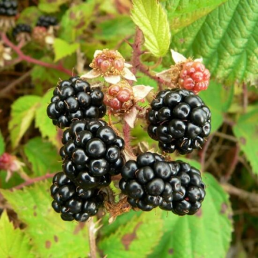
[{"label": "lowest ripe blackberry on the left, partly covered by berry above", "polygon": [[63,172],[55,174],[52,182],[52,207],[56,213],[61,213],[62,220],[84,222],[96,215],[103,205],[103,194],[98,189],[77,188]]}]

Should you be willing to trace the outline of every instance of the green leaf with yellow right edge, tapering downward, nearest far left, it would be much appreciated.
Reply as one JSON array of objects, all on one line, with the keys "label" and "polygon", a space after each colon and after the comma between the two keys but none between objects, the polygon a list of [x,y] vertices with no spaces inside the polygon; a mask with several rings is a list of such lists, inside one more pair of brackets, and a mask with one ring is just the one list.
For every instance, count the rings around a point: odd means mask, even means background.
[{"label": "green leaf with yellow right edge, tapering downward, nearest far left", "polygon": [[31,125],[39,101],[38,96],[24,96],[13,103],[10,114],[11,119],[8,124],[13,148],[17,147],[20,139]]}]

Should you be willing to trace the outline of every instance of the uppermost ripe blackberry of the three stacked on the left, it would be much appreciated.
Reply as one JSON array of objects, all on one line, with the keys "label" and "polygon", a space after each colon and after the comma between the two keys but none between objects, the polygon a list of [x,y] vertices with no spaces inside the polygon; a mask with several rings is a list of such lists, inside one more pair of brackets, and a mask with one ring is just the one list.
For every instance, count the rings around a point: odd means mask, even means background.
[{"label": "uppermost ripe blackberry of the three stacked on the left", "polygon": [[70,77],[59,82],[53,92],[47,115],[60,128],[70,126],[75,120],[99,119],[105,116],[104,94],[100,89],[91,89],[88,82],[79,77]]}]

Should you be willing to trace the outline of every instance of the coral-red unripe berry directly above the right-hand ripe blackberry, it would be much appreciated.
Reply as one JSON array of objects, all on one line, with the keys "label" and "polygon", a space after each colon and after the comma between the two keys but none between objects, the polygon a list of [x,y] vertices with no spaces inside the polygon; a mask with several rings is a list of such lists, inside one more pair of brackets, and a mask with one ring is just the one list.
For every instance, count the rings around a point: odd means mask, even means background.
[{"label": "coral-red unripe berry directly above the right-hand ripe blackberry", "polygon": [[179,75],[179,86],[198,93],[208,88],[211,74],[203,63],[188,61],[183,64]]}]

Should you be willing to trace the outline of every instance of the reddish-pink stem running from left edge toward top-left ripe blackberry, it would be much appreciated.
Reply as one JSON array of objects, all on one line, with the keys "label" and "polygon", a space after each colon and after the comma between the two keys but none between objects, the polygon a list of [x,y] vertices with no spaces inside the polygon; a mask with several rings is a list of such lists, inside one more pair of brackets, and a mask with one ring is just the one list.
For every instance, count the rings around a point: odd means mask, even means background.
[{"label": "reddish-pink stem running from left edge toward top-left ripe blackberry", "polygon": [[26,61],[28,63],[35,63],[39,66],[44,66],[44,67],[47,67],[47,68],[52,68],[52,69],[55,69],[55,70],[59,70],[59,71],[61,71],[63,73],[66,73],[70,76],[72,75],[72,72],[70,70],[67,70],[66,68],[64,68],[61,65],[61,63],[59,63],[58,65],[54,65],[52,63],[45,63],[44,61],[33,59],[31,56],[26,56],[26,54],[24,54],[22,52],[22,50],[20,50],[20,47],[17,47],[12,42],[10,42],[10,40],[7,38],[6,34],[3,33],[3,32],[1,33],[1,38],[3,40],[3,43],[8,45],[8,47],[10,47],[13,51],[15,51],[21,60]]}]

